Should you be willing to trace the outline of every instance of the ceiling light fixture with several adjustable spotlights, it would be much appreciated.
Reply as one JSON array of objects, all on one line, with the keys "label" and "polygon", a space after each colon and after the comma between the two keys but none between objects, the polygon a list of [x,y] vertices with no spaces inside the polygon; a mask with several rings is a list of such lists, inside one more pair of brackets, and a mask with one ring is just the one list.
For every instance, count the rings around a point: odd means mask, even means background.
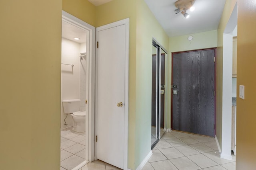
[{"label": "ceiling light fixture with several adjustable spotlights", "polygon": [[189,14],[186,13],[186,10],[190,9],[190,11],[194,11],[195,7],[193,4],[195,3],[196,0],[178,0],[175,2],[176,10],[174,10],[175,14],[178,14],[181,11],[181,14],[185,18],[189,18]]}]

